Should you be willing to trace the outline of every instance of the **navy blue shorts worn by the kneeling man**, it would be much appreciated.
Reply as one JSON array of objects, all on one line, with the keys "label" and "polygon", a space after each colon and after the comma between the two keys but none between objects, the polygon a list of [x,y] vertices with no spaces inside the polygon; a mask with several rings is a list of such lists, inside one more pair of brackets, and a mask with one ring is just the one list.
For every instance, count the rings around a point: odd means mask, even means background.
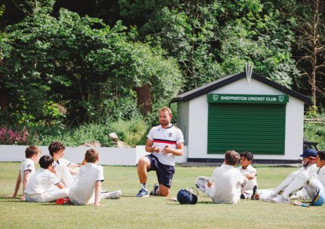
[{"label": "navy blue shorts worn by the kneeling man", "polygon": [[161,164],[158,158],[149,154],[146,157],[150,160],[150,169],[148,171],[156,171],[159,185],[164,185],[168,188],[172,185],[175,167],[173,165]]}]

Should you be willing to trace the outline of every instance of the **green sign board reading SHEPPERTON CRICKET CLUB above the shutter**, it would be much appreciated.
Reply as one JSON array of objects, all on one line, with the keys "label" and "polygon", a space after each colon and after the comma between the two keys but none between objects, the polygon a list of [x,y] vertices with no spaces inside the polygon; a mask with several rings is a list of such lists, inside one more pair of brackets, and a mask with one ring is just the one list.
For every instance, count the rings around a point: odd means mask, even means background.
[{"label": "green sign board reading SHEPPERTON CRICKET CLUB above the shutter", "polygon": [[208,94],[208,103],[266,103],[286,104],[289,101],[287,94]]}]

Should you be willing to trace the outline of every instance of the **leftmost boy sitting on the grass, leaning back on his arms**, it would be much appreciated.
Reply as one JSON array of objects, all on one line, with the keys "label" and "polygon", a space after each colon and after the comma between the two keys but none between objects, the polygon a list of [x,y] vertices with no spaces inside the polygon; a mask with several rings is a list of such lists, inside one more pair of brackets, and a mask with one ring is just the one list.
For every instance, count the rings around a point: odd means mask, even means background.
[{"label": "leftmost boy sitting on the grass, leaning back on his arms", "polygon": [[16,181],[15,191],[12,196],[17,197],[19,191],[20,183],[23,183],[23,194],[21,196],[21,201],[25,201],[25,190],[29,181],[29,178],[35,173],[35,163],[39,161],[39,156],[41,155],[41,149],[37,146],[29,146],[25,150],[26,159],[21,162],[20,169]]}]

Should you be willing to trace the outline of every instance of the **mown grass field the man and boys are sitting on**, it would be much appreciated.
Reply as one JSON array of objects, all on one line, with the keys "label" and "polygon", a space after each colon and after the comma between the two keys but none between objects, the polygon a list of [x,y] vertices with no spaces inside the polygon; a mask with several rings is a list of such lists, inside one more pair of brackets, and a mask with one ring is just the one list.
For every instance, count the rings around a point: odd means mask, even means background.
[{"label": "mown grass field the man and boys are sitting on", "polygon": [[[37,165],[38,167],[38,165]],[[137,167],[105,166],[103,189],[121,189],[119,200],[102,200],[105,207],[26,203],[12,194],[19,163],[0,162],[0,228],[324,228],[325,206],[242,201],[216,205],[200,196],[196,205],[180,205],[165,197],[136,198]],[[258,167],[261,189],[278,185],[297,168]],[[213,167],[176,167],[170,197],[193,187],[197,176],[210,176]],[[148,185],[156,183],[154,172]],[[21,191],[21,190],[20,190]]]}]

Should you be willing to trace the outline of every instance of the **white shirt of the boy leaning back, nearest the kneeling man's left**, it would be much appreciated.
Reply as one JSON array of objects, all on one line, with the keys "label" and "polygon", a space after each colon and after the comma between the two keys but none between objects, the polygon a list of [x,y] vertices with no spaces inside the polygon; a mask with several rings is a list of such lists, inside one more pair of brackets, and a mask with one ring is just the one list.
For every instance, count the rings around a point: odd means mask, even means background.
[{"label": "white shirt of the boy leaning back, nearest the kneeling man's left", "polygon": [[78,205],[86,205],[95,194],[96,181],[104,181],[103,167],[89,162],[82,165],[69,192],[71,201]]}]

